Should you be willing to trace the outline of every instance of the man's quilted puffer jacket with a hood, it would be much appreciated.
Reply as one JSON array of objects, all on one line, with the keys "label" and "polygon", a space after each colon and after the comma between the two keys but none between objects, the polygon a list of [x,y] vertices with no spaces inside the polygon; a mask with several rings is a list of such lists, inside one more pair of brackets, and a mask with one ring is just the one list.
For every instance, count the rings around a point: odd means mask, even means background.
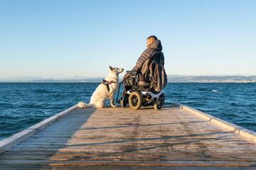
[{"label": "man's quilted puffer jacket with a hood", "polygon": [[142,69],[142,65],[144,64],[144,62],[158,52],[161,53],[161,55],[163,55],[163,58],[164,58],[164,53],[161,52],[162,49],[163,47],[161,46],[160,40],[155,40],[154,42],[149,44],[149,48],[144,50],[144,52],[139,57],[136,63],[136,66],[132,69],[132,71],[140,71]]}]

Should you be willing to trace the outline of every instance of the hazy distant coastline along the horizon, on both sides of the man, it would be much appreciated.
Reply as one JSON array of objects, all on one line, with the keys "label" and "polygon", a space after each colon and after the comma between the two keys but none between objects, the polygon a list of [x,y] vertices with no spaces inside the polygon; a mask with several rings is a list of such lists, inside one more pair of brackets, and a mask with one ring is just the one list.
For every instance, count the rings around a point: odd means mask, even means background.
[{"label": "hazy distant coastline along the horizon, on both sides of the man", "polygon": [[[103,77],[93,78],[70,78],[70,79],[33,79],[29,78],[16,78],[16,79],[0,79],[1,83],[98,83],[101,82]],[[122,78],[120,78],[122,79]],[[181,75],[168,75],[169,83],[255,83],[256,76],[181,76]]]}]

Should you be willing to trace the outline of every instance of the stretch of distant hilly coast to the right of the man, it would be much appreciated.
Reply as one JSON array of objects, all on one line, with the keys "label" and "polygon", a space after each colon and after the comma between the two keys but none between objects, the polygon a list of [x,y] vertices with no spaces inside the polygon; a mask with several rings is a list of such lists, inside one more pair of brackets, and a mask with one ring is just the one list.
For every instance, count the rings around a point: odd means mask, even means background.
[{"label": "stretch of distant hilly coast to the right of the man", "polygon": [[223,77],[211,77],[211,76],[198,76],[198,77],[168,77],[168,82],[199,82],[199,83],[248,83],[256,82],[256,76],[223,76]]}]

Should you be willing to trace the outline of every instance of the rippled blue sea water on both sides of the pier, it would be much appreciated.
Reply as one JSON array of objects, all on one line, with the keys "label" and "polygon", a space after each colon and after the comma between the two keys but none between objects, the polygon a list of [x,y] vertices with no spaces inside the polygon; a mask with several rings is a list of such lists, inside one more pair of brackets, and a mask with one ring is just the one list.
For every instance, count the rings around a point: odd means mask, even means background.
[{"label": "rippled blue sea water on both sides of the pier", "polygon": [[[0,83],[0,140],[79,101],[89,103],[97,86],[98,83]],[[256,132],[256,83],[169,83],[164,93],[166,104],[179,102]]]}]

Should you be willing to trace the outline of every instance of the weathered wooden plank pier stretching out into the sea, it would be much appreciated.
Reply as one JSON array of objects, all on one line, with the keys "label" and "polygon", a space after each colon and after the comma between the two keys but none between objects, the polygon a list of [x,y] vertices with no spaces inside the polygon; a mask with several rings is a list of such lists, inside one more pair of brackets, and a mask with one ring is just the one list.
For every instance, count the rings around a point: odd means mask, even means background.
[{"label": "weathered wooden plank pier stretching out into the sea", "polygon": [[255,132],[180,104],[74,106],[1,141],[0,169],[256,169],[255,141]]}]

